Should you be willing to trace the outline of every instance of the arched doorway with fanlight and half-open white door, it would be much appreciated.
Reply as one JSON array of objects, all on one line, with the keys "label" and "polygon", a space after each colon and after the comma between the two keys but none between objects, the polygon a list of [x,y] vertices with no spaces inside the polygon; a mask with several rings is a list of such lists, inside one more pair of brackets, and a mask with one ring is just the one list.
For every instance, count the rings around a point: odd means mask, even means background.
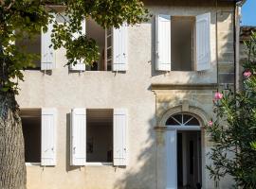
[{"label": "arched doorway with fanlight and half-open white door", "polygon": [[201,127],[190,113],[179,112],[166,121],[167,188],[202,187]]}]

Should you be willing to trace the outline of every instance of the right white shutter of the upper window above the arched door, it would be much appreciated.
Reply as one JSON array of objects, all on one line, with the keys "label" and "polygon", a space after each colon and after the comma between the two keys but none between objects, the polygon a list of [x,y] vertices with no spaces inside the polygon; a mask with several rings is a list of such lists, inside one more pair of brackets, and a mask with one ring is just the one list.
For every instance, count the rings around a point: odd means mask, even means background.
[{"label": "right white shutter of the upper window above the arched door", "polygon": [[196,16],[196,71],[210,69],[210,13]]}]

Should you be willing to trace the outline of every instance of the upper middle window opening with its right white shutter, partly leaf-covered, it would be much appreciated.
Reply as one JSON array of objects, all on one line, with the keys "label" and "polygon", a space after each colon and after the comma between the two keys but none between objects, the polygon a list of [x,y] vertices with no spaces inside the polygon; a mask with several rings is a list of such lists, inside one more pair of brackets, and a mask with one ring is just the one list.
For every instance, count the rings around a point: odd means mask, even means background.
[{"label": "upper middle window opening with its right white shutter, partly leaf-covered", "polygon": [[87,65],[88,71],[127,71],[128,70],[128,26],[104,29],[93,19],[86,20],[86,36],[99,46],[99,59]]}]

